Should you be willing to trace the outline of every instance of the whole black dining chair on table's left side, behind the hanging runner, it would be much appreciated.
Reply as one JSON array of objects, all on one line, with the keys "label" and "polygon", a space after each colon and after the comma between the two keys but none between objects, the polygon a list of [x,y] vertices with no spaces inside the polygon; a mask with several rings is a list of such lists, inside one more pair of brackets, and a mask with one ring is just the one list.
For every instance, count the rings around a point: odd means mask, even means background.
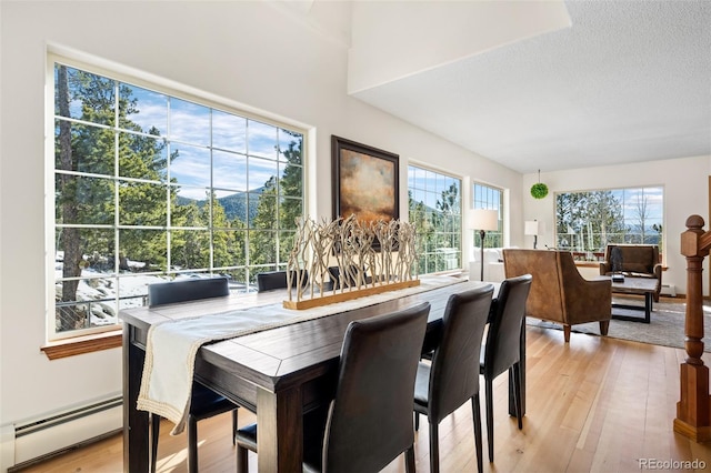
[{"label": "whole black dining chair on table's left side, behind the hanging runner", "polygon": [[[148,285],[148,304],[157,306],[230,295],[227,278],[201,278]],[[232,444],[236,443],[238,405],[193,381],[188,412],[188,471],[198,471],[198,421],[232,411]],[[151,414],[151,472],[156,472],[160,415]]]}]

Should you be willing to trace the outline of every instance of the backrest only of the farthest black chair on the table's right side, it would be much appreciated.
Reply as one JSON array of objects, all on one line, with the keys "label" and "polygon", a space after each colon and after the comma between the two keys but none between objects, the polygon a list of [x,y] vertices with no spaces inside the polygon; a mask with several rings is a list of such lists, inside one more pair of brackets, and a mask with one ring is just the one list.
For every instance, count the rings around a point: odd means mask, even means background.
[{"label": "backrest only of the farthest black chair on the table's right side", "polygon": [[487,378],[498,376],[520,360],[521,328],[531,281],[532,276],[524,274],[501,283],[484,348],[482,374]]}]

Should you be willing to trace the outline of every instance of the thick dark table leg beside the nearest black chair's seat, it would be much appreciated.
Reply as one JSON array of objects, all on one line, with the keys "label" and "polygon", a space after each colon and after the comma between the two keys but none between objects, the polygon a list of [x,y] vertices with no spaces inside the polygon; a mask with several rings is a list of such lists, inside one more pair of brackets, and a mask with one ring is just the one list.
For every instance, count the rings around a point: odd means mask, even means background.
[{"label": "thick dark table leg beside the nearest black chair's seat", "polygon": [[257,389],[257,450],[259,471],[296,472],[302,470],[303,415],[301,389],[272,393]]}]

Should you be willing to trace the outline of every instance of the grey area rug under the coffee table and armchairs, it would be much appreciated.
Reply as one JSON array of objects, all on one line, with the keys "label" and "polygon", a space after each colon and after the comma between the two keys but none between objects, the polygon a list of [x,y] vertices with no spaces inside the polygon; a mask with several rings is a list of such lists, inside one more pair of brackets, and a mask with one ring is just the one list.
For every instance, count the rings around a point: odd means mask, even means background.
[{"label": "grey area rug under the coffee table and armchairs", "polygon": [[[642,304],[643,301],[632,299],[618,299],[613,298],[613,302],[620,302],[625,304]],[[660,302],[654,303],[651,313],[651,323],[630,322],[624,320],[612,319],[610,321],[610,330],[608,336],[614,339],[630,340],[633,342],[651,343],[654,345],[674,346],[678,349],[684,348],[684,313],[687,310],[685,301],[679,300],[679,302],[671,299],[662,299]],[[628,309],[612,309],[613,314],[631,315],[631,316],[644,316],[643,311],[628,310]],[[542,329],[561,330],[562,325],[541,321],[539,319],[527,318],[527,324],[529,326],[538,326]],[[703,306],[703,326],[705,333],[711,333],[711,306]],[[585,333],[589,335],[600,336],[600,324],[598,322],[582,323],[573,325],[573,333]],[[704,336],[704,351],[711,352],[711,338]]]}]

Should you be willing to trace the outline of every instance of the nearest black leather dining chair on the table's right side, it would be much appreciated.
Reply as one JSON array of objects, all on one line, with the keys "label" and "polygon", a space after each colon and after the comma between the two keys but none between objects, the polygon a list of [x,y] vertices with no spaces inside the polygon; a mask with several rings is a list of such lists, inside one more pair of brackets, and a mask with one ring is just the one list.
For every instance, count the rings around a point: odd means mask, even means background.
[{"label": "nearest black leather dining chair on the table's right side", "polygon": [[[326,423],[303,416],[304,471],[377,472],[405,452],[414,472],[412,392],[430,303],[350,322],[341,346],[336,397]],[[307,432],[320,432],[317,445]],[[257,452],[257,424],[237,431],[237,471]]]}]

